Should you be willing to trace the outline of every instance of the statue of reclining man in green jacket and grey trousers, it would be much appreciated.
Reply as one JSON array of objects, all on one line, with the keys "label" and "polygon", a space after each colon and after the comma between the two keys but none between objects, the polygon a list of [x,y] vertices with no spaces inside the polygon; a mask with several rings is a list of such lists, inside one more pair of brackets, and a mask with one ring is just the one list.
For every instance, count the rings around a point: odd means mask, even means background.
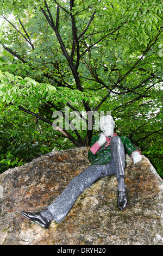
[{"label": "statue of reclining man in green jacket and grey trousers", "polygon": [[114,132],[115,122],[111,115],[99,120],[99,127],[103,133],[95,136],[91,141],[89,160],[91,165],[82,173],[74,177],[60,196],[45,210],[35,213],[21,214],[30,221],[36,222],[43,228],[49,228],[52,220],[60,223],[68,214],[79,195],[90,187],[96,180],[107,175],[116,174],[118,181],[117,208],[124,210],[127,206],[127,193],[124,183],[125,151],[133,158],[134,163],[141,160],[141,154],[129,138],[118,137]]}]

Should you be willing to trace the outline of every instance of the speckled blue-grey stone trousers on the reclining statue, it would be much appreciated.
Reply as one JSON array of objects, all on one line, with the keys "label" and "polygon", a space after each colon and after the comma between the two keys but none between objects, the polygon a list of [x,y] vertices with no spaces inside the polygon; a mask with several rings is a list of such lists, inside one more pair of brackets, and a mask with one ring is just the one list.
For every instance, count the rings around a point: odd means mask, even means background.
[{"label": "speckled blue-grey stone trousers on the reclining statue", "polygon": [[107,164],[91,165],[74,177],[65,190],[47,207],[54,221],[60,223],[68,214],[73,204],[85,188],[90,187],[96,180],[116,174],[117,180],[124,175],[125,153],[120,137],[112,137],[110,143],[111,159]]}]

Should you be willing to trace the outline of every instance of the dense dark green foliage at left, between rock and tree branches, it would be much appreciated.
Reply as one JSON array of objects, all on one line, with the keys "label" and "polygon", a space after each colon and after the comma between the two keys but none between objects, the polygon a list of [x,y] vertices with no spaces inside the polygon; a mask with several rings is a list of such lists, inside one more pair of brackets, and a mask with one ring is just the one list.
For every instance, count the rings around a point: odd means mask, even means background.
[{"label": "dense dark green foliage at left, between rock and tree branches", "polygon": [[[48,113],[48,110],[44,106],[43,111]],[[6,103],[1,103],[0,112],[0,173],[30,162],[53,149],[72,147],[72,143],[60,132],[52,132],[51,126],[42,120],[21,111],[17,114]]]}]

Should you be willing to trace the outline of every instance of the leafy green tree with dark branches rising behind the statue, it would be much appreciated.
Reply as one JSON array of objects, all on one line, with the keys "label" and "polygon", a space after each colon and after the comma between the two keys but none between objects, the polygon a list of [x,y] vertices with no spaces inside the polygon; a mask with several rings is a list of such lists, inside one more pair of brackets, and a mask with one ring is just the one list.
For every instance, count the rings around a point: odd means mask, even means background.
[{"label": "leafy green tree with dark branches rising behind the statue", "polygon": [[[111,111],[117,131],[135,143],[160,134],[161,12],[159,0],[1,0],[1,102],[50,125],[41,107],[60,111],[74,129],[55,128],[77,147],[93,133],[83,111]],[[85,131],[75,129],[65,106]]]}]

